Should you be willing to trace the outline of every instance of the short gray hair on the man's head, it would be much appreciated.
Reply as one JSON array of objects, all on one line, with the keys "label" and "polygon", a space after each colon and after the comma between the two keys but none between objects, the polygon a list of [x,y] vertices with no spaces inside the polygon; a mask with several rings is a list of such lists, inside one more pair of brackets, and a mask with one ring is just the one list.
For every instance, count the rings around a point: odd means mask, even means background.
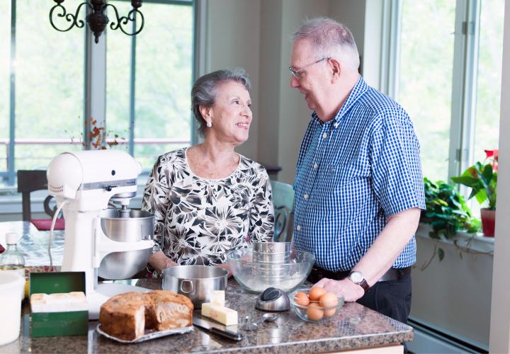
[{"label": "short gray hair on the man's head", "polygon": [[292,40],[293,43],[297,40],[309,41],[317,60],[334,58],[358,70],[358,47],[351,31],[342,23],[327,17],[307,19],[294,33]]}]

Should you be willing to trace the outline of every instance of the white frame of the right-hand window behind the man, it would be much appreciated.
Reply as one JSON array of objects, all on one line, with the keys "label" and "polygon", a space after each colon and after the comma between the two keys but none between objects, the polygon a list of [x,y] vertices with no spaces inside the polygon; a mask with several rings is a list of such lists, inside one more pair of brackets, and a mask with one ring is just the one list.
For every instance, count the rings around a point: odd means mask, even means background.
[{"label": "white frame of the right-hand window behind the man", "polygon": [[[474,159],[480,6],[481,0],[455,1],[448,181]],[[398,101],[402,0],[385,0],[383,16],[382,36],[389,40],[382,40],[381,88]]]}]

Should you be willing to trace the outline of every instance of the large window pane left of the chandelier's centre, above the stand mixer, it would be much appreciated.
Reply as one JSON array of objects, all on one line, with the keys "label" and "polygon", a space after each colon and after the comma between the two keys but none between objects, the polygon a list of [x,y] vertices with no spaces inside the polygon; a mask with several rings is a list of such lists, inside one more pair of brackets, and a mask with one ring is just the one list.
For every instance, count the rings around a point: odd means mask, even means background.
[{"label": "large window pane left of the chandelier's centre, above the stand mixer", "polygon": [[[74,13],[80,2],[65,1],[64,7]],[[52,28],[48,14],[54,4],[47,1],[16,4],[15,167],[45,169],[60,152],[81,149],[84,30]],[[73,137],[77,144],[71,144]]]}]

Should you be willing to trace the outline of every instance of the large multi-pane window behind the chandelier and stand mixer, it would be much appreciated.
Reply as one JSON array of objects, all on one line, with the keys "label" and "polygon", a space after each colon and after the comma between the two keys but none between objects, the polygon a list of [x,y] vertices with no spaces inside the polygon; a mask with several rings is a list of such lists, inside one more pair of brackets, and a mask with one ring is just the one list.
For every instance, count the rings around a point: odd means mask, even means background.
[{"label": "large multi-pane window behind the chandelier and stand mixer", "polygon": [[[81,2],[63,5],[74,13]],[[110,2],[121,16],[131,7]],[[54,5],[0,1],[0,187],[14,185],[18,169],[46,169],[57,154],[84,148],[89,28],[58,32],[48,21]],[[145,0],[141,11],[139,35],[106,31],[105,122],[108,138],[123,142],[116,148],[148,169],[191,142],[193,1]]]}]

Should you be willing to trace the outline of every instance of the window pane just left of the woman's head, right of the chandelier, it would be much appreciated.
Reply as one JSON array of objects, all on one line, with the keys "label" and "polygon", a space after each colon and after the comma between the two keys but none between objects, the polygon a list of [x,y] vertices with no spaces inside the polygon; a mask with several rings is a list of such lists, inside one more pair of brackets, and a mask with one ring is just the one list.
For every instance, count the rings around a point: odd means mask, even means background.
[{"label": "window pane just left of the woman's head, right of the chandelier", "polygon": [[145,168],[164,152],[189,145],[193,52],[193,8],[147,5],[146,27],[137,38],[135,138],[176,144],[136,144],[135,157]]}]

